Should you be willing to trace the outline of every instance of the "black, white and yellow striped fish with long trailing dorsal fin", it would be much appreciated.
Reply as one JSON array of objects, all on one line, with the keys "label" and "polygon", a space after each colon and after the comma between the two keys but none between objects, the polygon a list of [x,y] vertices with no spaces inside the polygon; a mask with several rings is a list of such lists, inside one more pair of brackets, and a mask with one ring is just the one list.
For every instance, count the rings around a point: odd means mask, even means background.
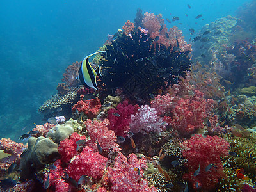
[{"label": "black, white and yellow striped fish with long trailing dorsal fin", "polygon": [[94,70],[94,68],[92,68],[92,66],[89,63],[89,58],[90,56],[93,56],[94,54],[98,54],[100,52],[106,52],[106,51],[98,51],[86,56],[79,68],[79,71],[78,71],[79,79],[81,83],[84,86],[86,86],[86,88],[93,88],[95,90],[99,90],[96,83],[96,76],[102,77],[99,69],[100,65],[97,67],[96,70]]}]

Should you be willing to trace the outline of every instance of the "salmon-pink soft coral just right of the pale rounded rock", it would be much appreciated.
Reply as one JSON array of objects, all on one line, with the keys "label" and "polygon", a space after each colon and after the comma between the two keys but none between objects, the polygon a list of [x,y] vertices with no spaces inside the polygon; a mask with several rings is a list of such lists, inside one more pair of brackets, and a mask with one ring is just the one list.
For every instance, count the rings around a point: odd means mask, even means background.
[{"label": "salmon-pink soft coral just right of the pale rounded rock", "polygon": [[86,130],[91,138],[91,140],[88,141],[88,145],[93,148],[94,151],[97,151],[97,145],[95,143],[96,139],[99,141],[103,151],[120,151],[120,148],[116,143],[115,132],[108,130],[108,125],[110,124],[108,119],[105,119],[103,122],[94,121],[93,124],[92,120],[87,120],[84,124],[86,125]]}]

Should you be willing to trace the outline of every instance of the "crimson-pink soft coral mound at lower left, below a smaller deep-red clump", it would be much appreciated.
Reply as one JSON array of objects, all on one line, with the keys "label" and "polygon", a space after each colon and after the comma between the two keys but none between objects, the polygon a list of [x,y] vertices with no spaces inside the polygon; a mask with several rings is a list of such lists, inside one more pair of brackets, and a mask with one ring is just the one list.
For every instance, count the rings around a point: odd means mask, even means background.
[{"label": "crimson-pink soft coral mound at lower left, below a smaller deep-red clump", "polygon": [[76,182],[82,175],[99,179],[103,176],[107,160],[106,157],[86,146],[76,159],[68,164],[67,173]]}]

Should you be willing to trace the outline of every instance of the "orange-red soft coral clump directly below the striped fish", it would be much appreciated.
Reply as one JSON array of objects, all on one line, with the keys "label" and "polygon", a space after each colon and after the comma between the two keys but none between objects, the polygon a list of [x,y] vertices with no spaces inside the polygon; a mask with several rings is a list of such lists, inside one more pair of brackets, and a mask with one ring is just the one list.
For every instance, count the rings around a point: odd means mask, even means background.
[{"label": "orange-red soft coral clump directly below the striped fish", "polygon": [[80,100],[72,107],[72,111],[77,109],[79,113],[83,112],[88,118],[95,118],[101,108],[99,98],[83,100],[83,97],[80,95]]}]

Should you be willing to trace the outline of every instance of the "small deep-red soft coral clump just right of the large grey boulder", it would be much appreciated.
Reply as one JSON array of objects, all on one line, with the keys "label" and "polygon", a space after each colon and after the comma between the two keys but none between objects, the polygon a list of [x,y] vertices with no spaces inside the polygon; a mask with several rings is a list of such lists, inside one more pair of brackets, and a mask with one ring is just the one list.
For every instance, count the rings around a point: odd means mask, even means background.
[{"label": "small deep-red soft coral clump just right of the large grey boulder", "polygon": [[72,157],[77,155],[77,144],[76,141],[84,140],[86,136],[80,136],[78,133],[74,132],[70,139],[65,139],[60,141],[60,145],[58,147],[58,152],[61,156],[61,161],[63,163],[69,163]]}]

